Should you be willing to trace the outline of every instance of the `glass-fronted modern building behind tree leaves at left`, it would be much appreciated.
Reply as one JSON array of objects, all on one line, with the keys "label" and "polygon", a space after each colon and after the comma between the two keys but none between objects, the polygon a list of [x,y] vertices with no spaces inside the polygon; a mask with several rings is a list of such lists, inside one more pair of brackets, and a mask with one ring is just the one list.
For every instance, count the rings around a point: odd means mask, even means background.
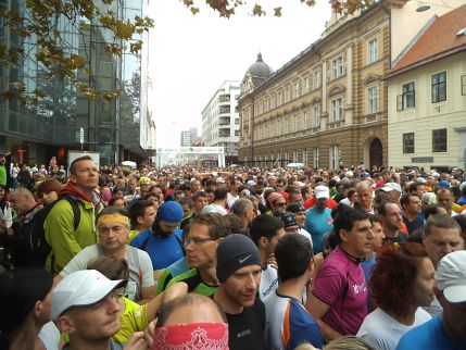
[{"label": "glass-fronted modern building behind tree leaves at left", "polygon": [[[105,11],[111,8],[124,20],[134,20],[135,15],[143,15],[149,1],[98,4]],[[25,1],[2,0],[0,7],[24,13]],[[68,150],[83,149],[99,152],[102,164],[122,160],[142,162],[148,150],[155,149],[152,135],[155,126],[147,92],[149,49],[146,47],[135,55],[128,46],[121,57],[110,55],[105,52],[105,46],[112,42],[109,32],[97,18],[86,24],[87,29],[84,26],[77,29],[64,16],[59,21],[61,32],[65,33],[62,43],[65,52],[87,55],[90,63],[91,75],[80,71],[77,79],[98,90],[119,89],[121,96],[110,101],[101,97],[91,100],[77,91],[73,82],[46,78],[43,67],[35,61],[36,42],[25,42],[30,52],[24,64],[18,68],[0,67],[0,88],[5,91],[10,82],[21,82],[26,92],[39,88],[48,96],[37,107],[21,105],[15,99],[0,101],[0,146],[12,152],[14,161],[20,159],[17,150],[26,150],[27,163],[43,163],[55,155],[59,163],[65,164]],[[133,39],[146,40],[147,35]],[[14,30],[0,27],[0,43],[9,48],[18,42]]]}]

